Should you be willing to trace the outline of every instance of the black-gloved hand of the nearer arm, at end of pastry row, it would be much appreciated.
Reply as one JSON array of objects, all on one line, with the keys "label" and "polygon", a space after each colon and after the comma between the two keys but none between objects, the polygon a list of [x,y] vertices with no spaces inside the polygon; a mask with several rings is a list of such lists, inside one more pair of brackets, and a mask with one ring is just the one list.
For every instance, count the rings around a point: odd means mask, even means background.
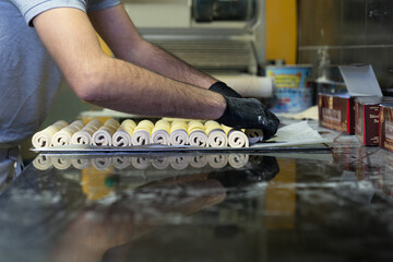
[{"label": "black-gloved hand of the nearer arm, at end of pastry row", "polygon": [[262,129],[264,139],[272,138],[278,129],[279,120],[255,98],[224,96],[226,108],[218,122],[237,129]]}]

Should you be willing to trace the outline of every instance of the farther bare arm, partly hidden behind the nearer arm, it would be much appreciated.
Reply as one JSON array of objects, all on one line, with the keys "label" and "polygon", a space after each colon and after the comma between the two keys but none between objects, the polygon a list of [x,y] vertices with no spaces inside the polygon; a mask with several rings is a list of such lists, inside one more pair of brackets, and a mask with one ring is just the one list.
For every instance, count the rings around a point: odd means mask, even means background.
[{"label": "farther bare arm, partly hidden behind the nearer arm", "polygon": [[121,4],[108,10],[88,12],[88,17],[115,57],[204,88],[217,82],[211,75],[144,40]]}]

